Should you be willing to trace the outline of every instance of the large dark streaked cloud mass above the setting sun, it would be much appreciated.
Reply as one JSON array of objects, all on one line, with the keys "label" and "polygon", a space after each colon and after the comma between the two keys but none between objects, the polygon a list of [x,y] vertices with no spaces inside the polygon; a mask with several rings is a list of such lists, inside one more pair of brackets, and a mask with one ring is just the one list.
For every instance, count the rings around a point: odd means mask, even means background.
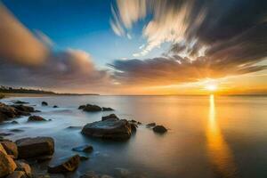
[{"label": "large dark streaked cloud mass above the setting sun", "polygon": [[[151,16],[142,31],[147,43],[134,57],[144,56],[165,42],[171,47],[165,57],[109,64],[117,80],[126,84],[172,85],[266,69],[258,64],[267,57],[266,1],[145,2],[146,16]],[[117,1],[117,8],[124,8],[119,11],[123,19],[129,14],[121,12],[130,7],[120,3]],[[123,20],[120,24],[128,29],[137,20],[130,21],[131,25]]]}]

